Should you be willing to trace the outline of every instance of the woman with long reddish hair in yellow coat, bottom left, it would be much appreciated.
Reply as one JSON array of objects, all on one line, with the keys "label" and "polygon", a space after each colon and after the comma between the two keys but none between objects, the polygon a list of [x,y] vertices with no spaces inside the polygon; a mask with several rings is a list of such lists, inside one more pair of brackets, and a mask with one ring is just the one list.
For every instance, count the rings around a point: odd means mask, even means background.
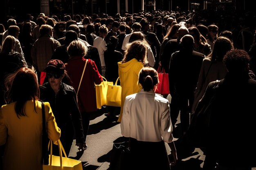
[{"label": "woman with long reddish hair in yellow coat, bottom left", "polygon": [[[9,81],[8,81],[9,80]],[[7,105],[0,109],[0,145],[5,144],[4,170],[42,170],[42,107],[36,74],[20,68],[7,77]],[[52,109],[45,102],[48,138],[61,136]]]}]

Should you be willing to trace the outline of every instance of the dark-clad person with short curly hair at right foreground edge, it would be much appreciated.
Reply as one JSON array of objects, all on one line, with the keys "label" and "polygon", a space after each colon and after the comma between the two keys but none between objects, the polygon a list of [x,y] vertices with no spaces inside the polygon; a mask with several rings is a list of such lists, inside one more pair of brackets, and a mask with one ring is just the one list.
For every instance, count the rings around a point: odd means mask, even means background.
[{"label": "dark-clad person with short curly hair at right foreground edge", "polygon": [[[256,141],[252,136],[256,132],[256,81],[249,77],[249,55],[246,51],[233,49],[227,52],[223,62],[228,73],[217,88],[203,169],[211,170],[218,163],[226,169],[251,170],[256,160]],[[213,84],[209,84],[205,96],[212,95]],[[202,101],[205,99],[203,97]],[[234,147],[231,143],[236,142],[238,136],[243,136],[243,140]],[[239,149],[239,157],[236,148]]]}]

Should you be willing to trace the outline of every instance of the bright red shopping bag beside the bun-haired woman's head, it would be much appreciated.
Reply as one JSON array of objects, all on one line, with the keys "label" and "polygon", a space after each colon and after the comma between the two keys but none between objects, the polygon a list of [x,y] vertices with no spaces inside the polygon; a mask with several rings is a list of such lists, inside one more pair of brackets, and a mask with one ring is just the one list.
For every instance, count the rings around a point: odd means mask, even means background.
[{"label": "bright red shopping bag beside the bun-haired woman's head", "polygon": [[154,91],[155,93],[159,93],[161,95],[168,95],[170,93],[168,73],[165,73],[164,67],[162,66],[158,66],[157,73],[159,84],[155,86]]}]

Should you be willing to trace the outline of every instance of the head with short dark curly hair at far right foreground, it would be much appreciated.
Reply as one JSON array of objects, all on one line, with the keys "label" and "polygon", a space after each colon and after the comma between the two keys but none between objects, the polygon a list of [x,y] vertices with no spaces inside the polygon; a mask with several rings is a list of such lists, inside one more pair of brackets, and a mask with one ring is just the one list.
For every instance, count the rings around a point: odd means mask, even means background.
[{"label": "head with short dark curly hair at far right foreground", "polygon": [[250,57],[245,50],[232,49],[223,58],[229,73],[248,73]]}]

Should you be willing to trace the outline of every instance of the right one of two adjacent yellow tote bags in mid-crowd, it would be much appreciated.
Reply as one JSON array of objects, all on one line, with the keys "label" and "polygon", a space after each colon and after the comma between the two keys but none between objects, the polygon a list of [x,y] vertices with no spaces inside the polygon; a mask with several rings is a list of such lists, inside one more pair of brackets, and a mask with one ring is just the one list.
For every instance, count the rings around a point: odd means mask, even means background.
[{"label": "right one of two adjacent yellow tote bags in mid-crowd", "polygon": [[[119,77],[117,78],[118,81]],[[108,85],[107,92],[107,106],[117,106],[121,107],[121,86],[117,85],[117,81],[115,85]]]}]

